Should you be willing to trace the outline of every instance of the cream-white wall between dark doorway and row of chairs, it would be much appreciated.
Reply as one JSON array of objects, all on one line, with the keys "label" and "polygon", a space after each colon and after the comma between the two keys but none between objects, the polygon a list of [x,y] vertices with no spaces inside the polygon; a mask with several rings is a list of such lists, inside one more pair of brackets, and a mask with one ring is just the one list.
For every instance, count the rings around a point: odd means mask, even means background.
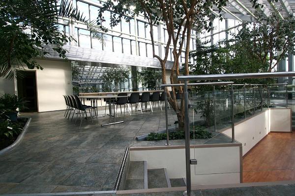
[{"label": "cream-white wall between dark doorway and row of chairs", "polygon": [[62,95],[72,95],[70,63],[55,60],[36,61],[44,68],[36,71],[38,111],[65,109]]}]

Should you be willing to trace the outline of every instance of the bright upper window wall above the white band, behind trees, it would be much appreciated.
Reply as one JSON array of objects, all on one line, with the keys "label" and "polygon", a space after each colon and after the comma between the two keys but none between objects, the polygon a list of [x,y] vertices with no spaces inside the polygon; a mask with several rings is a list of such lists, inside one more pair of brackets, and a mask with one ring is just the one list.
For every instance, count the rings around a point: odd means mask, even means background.
[{"label": "bright upper window wall above the white band, behind trees", "polygon": [[[73,0],[73,6],[77,7],[80,12],[83,13],[83,16],[89,21],[95,21],[98,15],[98,9],[101,7],[100,0]],[[151,38],[150,38],[150,27],[145,20],[145,18],[141,15],[137,16],[137,18],[131,18],[129,21],[122,19],[117,26],[110,26],[110,16],[114,16],[115,14],[111,11],[105,11],[103,13],[102,25],[108,28],[108,32],[103,33],[104,35],[104,44],[101,41],[94,39],[91,37],[91,32],[88,29],[88,26],[84,24],[78,23],[66,23],[65,20],[63,24],[60,24],[59,29],[64,31],[67,35],[71,35],[70,26],[72,25],[74,29],[74,34],[72,36],[75,37],[77,43],[72,44],[75,46],[89,48],[89,49],[98,49],[98,50],[106,50],[112,52],[120,52],[127,55],[140,55],[143,57],[152,57],[152,46],[151,46]],[[68,25],[64,25],[68,24]],[[226,21],[220,21],[219,18],[214,19],[213,21],[214,29],[211,32],[207,32],[207,30],[202,30],[200,32],[201,41],[208,41],[207,45],[211,45],[209,41],[212,38],[212,44],[217,44],[219,41],[222,41],[226,38],[226,32],[220,32],[226,29]],[[237,20],[228,19],[228,27],[232,27],[240,24]],[[231,38],[232,33],[236,33],[237,28],[233,28],[229,31],[229,39]],[[211,35],[213,33],[213,35]],[[190,50],[195,49],[195,43],[197,39],[197,32],[192,30],[191,39],[189,41]],[[165,25],[159,24],[153,27],[153,39],[155,44],[155,54],[160,57],[164,57],[165,50],[168,49],[168,60],[173,60],[172,50],[173,47],[166,46],[166,42],[168,41],[168,33]],[[137,41],[137,42],[136,42]],[[136,47],[137,43],[137,47]],[[69,43],[67,43],[69,44]],[[184,62],[184,50],[186,46],[186,38],[183,43],[181,56],[179,58],[179,62]],[[161,51],[159,52],[159,48]],[[138,51],[136,51],[138,49]],[[192,60],[192,59],[191,59]]]}]

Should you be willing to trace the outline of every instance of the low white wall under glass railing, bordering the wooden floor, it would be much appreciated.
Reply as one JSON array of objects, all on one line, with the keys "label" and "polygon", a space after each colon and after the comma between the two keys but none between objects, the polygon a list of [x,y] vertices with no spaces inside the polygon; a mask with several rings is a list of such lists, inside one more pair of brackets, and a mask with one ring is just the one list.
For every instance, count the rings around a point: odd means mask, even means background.
[{"label": "low white wall under glass railing, bordering the wooden floor", "polygon": [[[291,131],[289,108],[268,109],[235,125],[235,140],[242,143],[243,155],[261,141],[270,131]],[[232,129],[222,133],[232,138]]]}]

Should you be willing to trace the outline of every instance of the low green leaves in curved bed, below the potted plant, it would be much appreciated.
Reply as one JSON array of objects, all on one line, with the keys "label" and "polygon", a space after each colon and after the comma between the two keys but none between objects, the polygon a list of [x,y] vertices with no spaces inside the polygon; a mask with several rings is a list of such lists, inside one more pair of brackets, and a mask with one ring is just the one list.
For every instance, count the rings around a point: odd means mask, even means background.
[{"label": "low green leaves in curved bed, below the potted plant", "polygon": [[0,139],[14,139],[23,130],[22,122],[11,122],[10,120],[2,120],[0,122]]}]

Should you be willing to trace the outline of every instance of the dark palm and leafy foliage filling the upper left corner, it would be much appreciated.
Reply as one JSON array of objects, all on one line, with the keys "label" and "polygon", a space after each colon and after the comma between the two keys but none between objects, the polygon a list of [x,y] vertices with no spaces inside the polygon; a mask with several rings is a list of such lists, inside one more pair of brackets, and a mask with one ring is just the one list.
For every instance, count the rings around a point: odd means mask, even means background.
[{"label": "dark palm and leafy foliage filling the upper left corner", "polygon": [[75,40],[59,31],[60,17],[87,25],[92,37],[103,42],[99,26],[68,0],[2,0],[0,7],[0,77],[12,79],[25,67],[42,70],[34,59],[49,54],[45,45],[66,58],[64,43]]}]

